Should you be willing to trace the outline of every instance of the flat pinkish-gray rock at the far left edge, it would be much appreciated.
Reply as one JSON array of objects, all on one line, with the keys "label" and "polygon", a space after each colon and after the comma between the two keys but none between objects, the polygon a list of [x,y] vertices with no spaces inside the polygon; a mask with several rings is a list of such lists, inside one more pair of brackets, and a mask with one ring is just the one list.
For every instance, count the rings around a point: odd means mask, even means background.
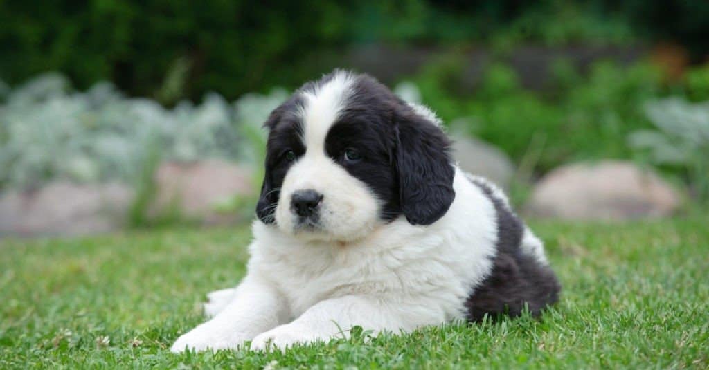
[{"label": "flat pinkish-gray rock at the far left edge", "polygon": [[89,235],[123,228],[133,191],[121,184],[55,181],[0,196],[0,235]]}]

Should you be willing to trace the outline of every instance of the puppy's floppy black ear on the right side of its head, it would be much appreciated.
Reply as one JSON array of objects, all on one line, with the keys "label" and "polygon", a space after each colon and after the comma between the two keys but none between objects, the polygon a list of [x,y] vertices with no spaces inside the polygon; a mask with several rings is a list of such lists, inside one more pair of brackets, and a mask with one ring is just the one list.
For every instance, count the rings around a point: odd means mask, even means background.
[{"label": "puppy's floppy black ear on the right side of its head", "polygon": [[406,103],[393,115],[401,209],[412,225],[430,225],[445,215],[455,198],[450,140]]}]

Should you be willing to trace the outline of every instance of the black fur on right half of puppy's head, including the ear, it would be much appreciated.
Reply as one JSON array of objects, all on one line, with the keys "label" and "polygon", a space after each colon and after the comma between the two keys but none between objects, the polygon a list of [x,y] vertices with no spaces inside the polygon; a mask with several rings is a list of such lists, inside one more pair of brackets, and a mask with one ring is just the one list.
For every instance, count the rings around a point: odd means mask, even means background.
[{"label": "black fur on right half of puppy's head, including the ear", "polygon": [[[413,225],[430,225],[448,211],[455,198],[450,141],[445,133],[367,75],[358,76],[352,84],[325,147],[330,157],[384,203],[383,220],[403,214]],[[357,164],[340,160],[348,147],[362,153]]]}]

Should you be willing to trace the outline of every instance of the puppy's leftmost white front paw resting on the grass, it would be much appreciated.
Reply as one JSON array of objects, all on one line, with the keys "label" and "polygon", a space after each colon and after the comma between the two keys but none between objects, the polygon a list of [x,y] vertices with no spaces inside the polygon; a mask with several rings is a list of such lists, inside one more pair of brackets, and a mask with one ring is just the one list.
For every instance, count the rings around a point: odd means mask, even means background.
[{"label": "puppy's leftmost white front paw resting on the grass", "polygon": [[240,333],[224,330],[223,327],[215,327],[204,323],[190,330],[186,334],[177,338],[177,341],[170,347],[170,352],[182,353],[185,350],[205,351],[211,349],[235,349],[250,338]]}]

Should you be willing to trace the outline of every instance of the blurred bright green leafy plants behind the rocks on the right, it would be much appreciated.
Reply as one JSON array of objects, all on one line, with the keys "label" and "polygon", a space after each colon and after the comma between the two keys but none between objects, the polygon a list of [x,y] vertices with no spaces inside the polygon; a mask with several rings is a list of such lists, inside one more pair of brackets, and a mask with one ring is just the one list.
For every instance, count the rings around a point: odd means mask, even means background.
[{"label": "blurred bright green leafy plants behind the rocks on the right", "polygon": [[447,57],[413,77],[422,100],[445,122],[492,142],[516,163],[532,154],[535,172],[578,159],[632,157],[625,137],[650,127],[642,104],[662,90],[659,72],[647,64],[597,62],[582,76],[562,61],[554,66],[551,93],[523,89],[503,64],[490,65],[467,93],[462,65]]}]

